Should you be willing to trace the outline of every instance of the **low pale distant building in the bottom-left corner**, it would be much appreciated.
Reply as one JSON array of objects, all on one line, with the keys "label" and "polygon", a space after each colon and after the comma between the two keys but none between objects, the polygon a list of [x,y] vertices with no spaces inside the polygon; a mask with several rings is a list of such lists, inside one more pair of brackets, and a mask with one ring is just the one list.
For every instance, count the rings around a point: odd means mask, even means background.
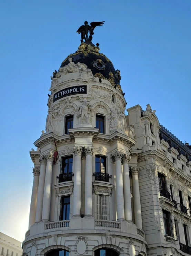
[{"label": "low pale distant building in the bottom-left corner", "polygon": [[1,256],[22,256],[21,242],[0,232]]}]

